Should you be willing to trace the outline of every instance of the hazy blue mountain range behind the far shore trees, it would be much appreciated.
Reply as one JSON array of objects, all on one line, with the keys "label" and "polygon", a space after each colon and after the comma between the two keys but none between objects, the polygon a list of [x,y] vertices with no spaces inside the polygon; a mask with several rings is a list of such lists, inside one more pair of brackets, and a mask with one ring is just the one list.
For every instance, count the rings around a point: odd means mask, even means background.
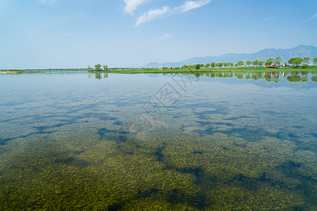
[{"label": "hazy blue mountain range behind the far shore trees", "polygon": [[263,49],[256,53],[226,53],[221,56],[194,57],[176,63],[148,63],[144,68],[162,68],[182,67],[182,65],[232,62],[237,63],[240,60],[267,60],[268,58],[282,57],[283,60],[289,60],[292,57],[309,57],[311,60],[317,57],[316,46],[299,45],[292,49]]}]

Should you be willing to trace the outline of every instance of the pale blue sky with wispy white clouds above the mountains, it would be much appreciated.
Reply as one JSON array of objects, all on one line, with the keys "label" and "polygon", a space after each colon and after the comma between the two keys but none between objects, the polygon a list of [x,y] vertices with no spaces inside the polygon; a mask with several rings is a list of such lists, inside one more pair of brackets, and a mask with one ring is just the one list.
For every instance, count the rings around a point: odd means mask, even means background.
[{"label": "pale blue sky with wispy white clouds above the mountains", "polygon": [[316,0],[0,0],[0,69],[317,46]]}]

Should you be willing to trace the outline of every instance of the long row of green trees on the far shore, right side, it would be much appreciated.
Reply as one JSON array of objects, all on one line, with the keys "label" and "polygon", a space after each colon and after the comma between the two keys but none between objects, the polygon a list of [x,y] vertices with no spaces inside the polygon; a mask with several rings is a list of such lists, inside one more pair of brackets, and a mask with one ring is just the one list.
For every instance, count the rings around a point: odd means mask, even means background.
[{"label": "long row of green trees on the far shore, right side", "polygon": [[[206,63],[206,65],[204,64],[196,64],[196,65],[183,65],[182,69],[197,69],[199,70],[200,68],[227,68],[227,67],[244,67],[245,65],[247,66],[255,66],[255,67],[261,67],[263,65],[292,65],[292,66],[299,66],[302,65],[303,67],[306,67],[309,65],[309,63],[311,62],[311,59],[309,57],[304,57],[304,58],[300,58],[300,57],[294,57],[294,58],[290,58],[290,60],[285,61],[282,60],[282,58],[280,56],[276,57],[276,58],[268,58],[268,60],[263,61],[263,60],[247,60],[246,62],[244,62],[243,60],[240,60],[239,62],[233,64],[233,63]],[[317,57],[313,58],[312,60],[314,65],[317,65]],[[164,70],[164,68],[163,68]]]}]

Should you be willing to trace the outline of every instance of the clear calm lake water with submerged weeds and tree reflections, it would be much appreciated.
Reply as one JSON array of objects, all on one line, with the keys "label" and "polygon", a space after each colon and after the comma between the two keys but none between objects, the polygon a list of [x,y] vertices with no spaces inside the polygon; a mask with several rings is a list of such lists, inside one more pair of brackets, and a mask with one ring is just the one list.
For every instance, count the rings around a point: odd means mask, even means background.
[{"label": "clear calm lake water with submerged weeds and tree reflections", "polygon": [[1,210],[315,210],[316,74],[0,75]]}]

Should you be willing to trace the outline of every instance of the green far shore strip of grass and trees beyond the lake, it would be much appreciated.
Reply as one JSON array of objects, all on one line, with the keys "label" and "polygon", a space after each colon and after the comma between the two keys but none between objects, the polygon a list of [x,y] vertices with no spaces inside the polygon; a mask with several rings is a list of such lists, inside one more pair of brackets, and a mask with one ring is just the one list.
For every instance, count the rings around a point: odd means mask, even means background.
[{"label": "green far shore strip of grass and trees beyond the lake", "polygon": [[[310,65],[313,64],[313,65]],[[270,70],[271,69],[271,70]],[[61,69],[25,69],[25,70],[0,70],[0,73],[21,74],[32,72],[68,72],[68,71],[85,71],[85,72],[116,72],[125,74],[136,73],[196,73],[196,72],[267,72],[267,71],[309,71],[317,72],[317,57],[311,58],[294,57],[283,61],[280,56],[277,58],[268,58],[268,60],[240,60],[238,63],[219,62],[183,65],[182,67],[163,67],[163,68],[108,68],[108,65],[97,63],[92,68],[61,68]]]}]

